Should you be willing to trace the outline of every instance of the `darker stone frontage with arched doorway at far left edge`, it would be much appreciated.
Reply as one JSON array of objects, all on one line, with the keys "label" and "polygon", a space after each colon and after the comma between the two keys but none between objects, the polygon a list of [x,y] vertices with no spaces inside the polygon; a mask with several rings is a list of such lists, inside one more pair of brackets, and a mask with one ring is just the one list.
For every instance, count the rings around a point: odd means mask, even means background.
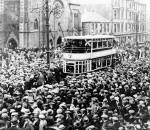
[{"label": "darker stone frontage with arched doorway at far left edge", "polygon": [[0,0],[0,48],[19,44],[20,0]]}]

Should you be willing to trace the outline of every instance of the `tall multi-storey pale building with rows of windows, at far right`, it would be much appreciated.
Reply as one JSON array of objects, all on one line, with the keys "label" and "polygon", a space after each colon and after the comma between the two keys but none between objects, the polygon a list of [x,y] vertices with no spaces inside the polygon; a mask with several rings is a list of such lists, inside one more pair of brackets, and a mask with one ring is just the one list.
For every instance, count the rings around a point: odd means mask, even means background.
[{"label": "tall multi-storey pale building with rows of windows, at far right", "polygon": [[122,43],[146,41],[146,4],[112,0],[112,34]]}]

